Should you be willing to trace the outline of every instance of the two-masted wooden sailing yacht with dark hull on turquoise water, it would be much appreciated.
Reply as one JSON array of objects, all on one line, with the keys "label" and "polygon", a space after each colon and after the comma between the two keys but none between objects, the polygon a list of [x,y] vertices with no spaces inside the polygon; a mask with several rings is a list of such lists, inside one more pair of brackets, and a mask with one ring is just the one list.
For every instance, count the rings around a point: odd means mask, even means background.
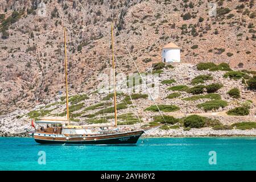
[{"label": "two-masted wooden sailing yacht with dark hull on turquoise water", "polygon": [[[112,64],[114,64],[114,38],[113,23],[111,22],[112,32]],[[66,45],[66,28],[64,27],[64,44],[65,44],[65,89],[66,89],[66,109],[67,118],[47,119],[42,118],[35,123],[47,125],[46,129],[40,127],[35,129],[33,137],[40,144],[136,144],[144,130],[121,131],[117,128],[117,96],[115,92],[115,74],[114,75],[114,119],[115,127],[113,130],[94,130],[97,126],[76,126],[69,121],[68,109],[68,69],[67,69],[67,45]],[[115,71],[114,71],[115,72]],[[32,126],[35,127],[34,122]],[[104,127],[104,126],[100,126]],[[105,127],[110,127],[109,125]]]}]

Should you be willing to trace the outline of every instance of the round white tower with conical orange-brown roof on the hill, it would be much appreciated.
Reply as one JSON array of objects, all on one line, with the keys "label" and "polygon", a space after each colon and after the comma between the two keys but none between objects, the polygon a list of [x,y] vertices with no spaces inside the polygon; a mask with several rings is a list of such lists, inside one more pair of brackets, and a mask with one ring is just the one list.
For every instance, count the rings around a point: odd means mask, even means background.
[{"label": "round white tower with conical orange-brown roof on the hill", "polygon": [[179,63],[180,62],[180,47],[174,43],[168,43],[162,49],[163,63]]}]

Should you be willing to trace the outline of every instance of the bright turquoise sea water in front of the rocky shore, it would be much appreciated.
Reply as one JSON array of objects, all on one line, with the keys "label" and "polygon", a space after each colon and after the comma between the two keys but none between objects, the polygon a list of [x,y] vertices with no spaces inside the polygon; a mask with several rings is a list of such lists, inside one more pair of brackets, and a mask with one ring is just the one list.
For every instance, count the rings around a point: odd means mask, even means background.
[{"label": "bright turquoise sea water in front of the rocky shore", "polygon": [[[38,163],[39,151],[46,164]],[[216,152],[217,164],[209,164],[209,151]],[[0,155],[0,170],[256,170],[256,138],[148,138],[137,146],[46,146],[32,138],[0,138]]]}]

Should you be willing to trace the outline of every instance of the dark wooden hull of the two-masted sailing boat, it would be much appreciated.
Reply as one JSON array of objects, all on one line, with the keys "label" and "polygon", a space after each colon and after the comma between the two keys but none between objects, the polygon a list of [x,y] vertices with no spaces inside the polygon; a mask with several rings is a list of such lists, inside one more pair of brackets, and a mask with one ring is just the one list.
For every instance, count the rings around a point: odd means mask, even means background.
[{"label": "dark wooden hull of the two-masted sailing boat", "polygon": [[90,137],[40,137],[34,139],[40,144],[136,144],[143,130],[130,131],[126,133],[94,135]]}]

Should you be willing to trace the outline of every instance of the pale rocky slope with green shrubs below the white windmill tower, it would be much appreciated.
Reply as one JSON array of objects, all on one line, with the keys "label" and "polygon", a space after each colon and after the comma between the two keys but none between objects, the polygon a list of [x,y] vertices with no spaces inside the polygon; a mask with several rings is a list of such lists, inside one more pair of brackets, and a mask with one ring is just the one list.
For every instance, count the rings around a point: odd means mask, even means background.
[{"label": "pale rocky slope with green shrubs below the white windmill tower", "polygon": [[[133,82],[129,88],[121,89],[123,80],[118,79],[118,125],[138,127],[140,122],[142,126],[156,124],[160,113],[154,101],[148,97],[148,92],[154,96],[156,104],[165,116],[183,118],[186,114],[197,114],[214,119],[214,125],[218,126],[230,126],[237,122],[256,122],[254,116],[256,93],[255,90],[248,89],[244,83],[253,76],[251,73],[199,69],[201,69],[199,64],[174,66],[156,64],[155,67],[146,69],[144,73],[143,80],[147,82],[148,89],[144,89],[143,81]],[[222,64],[218,69],[230,68]],[[151,73],[160,73],[160,75],[155,76],[152,81]],[[125,85],[126,83],[127,81]],[[46,102],[47,104],[36,105],[31,110],[17,109],[0,116],[0,131],[20,132],[25,128],[31,129],[31,119],[47,116],[63,117],[67,114],[65,97],[56,96]],[[69,97],[69,103],[69,115],[73,122],[79,122],[81,125],[114,122],[113,93],[99,93],[98,90],[90,89]],[[168,119],[170,118],[167,117],[165,122],[169,123]],[[160,122],[165,123],[161,118]],[[212,123],[212,120],[209,123]],[[210,126],[212,125],[208,124],[205,127]]]}]

